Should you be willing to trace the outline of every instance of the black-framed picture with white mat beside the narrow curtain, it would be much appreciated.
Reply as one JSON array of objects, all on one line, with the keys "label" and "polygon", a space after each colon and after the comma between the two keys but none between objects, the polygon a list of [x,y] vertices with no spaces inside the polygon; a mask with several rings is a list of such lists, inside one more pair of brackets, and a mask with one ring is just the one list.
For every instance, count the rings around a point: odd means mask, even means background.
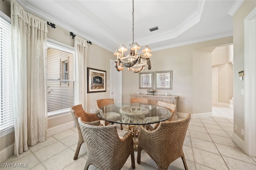
[{"label": "black-framed picture with white mat beside the narrow curtain", "polygon": [[106,71],[87,67],[87,93],[106,92]]}]

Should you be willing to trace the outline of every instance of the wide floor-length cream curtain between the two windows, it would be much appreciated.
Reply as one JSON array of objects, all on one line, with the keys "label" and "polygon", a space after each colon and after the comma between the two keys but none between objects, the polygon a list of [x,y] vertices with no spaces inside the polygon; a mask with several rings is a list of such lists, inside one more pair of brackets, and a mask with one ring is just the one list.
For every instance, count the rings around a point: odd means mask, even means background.
[{"label": "wide floor-length cream curtain between the two windows", "polygon": [[46,140],[47,22],[11,1],[14,154]]}]

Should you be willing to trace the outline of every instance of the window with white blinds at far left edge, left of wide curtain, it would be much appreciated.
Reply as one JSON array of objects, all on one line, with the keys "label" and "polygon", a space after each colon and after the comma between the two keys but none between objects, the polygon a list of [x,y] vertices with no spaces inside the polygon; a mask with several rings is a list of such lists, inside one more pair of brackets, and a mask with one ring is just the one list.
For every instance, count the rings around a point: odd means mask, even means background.
[{"label": "window with white blinds at far left edge, left of wide curtain", "polygon": [[11,24],[0,17],[0,131],[4,135],[14,128],[12,92]]}]

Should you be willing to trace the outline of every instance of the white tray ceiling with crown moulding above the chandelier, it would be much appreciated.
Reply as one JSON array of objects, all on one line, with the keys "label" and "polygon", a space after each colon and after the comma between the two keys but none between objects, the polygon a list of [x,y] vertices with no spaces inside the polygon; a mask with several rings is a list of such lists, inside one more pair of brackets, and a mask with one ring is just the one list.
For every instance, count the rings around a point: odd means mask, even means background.
[{"label": "white tray ceiling with crown moulding above the chandelier", "polygon": [[[24,8],[111,52],[132,43],[132,0],[19,0]],[[243,0],[134,0],[134,42],[152,51],[233,35]],[[150,32],[149,28],[159,30]],[[53,29],[53,28],[51,28]],[[72,38],[70,36],[70,38]]]}]

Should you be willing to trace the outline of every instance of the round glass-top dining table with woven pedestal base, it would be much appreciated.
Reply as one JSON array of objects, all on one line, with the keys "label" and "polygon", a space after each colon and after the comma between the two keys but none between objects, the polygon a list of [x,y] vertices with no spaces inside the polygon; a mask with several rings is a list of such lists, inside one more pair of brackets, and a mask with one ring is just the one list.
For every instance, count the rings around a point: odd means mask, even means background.
[{"label": "round glass-top dining table with woven pedestal base", "polygon": [[147,125],[166,121],[172,113],[161,106],[142,103],[115,103],[100,107],[96,115],[111,123],[123,124],[132,132],[134,149],[138,148],[139,125]]}]

